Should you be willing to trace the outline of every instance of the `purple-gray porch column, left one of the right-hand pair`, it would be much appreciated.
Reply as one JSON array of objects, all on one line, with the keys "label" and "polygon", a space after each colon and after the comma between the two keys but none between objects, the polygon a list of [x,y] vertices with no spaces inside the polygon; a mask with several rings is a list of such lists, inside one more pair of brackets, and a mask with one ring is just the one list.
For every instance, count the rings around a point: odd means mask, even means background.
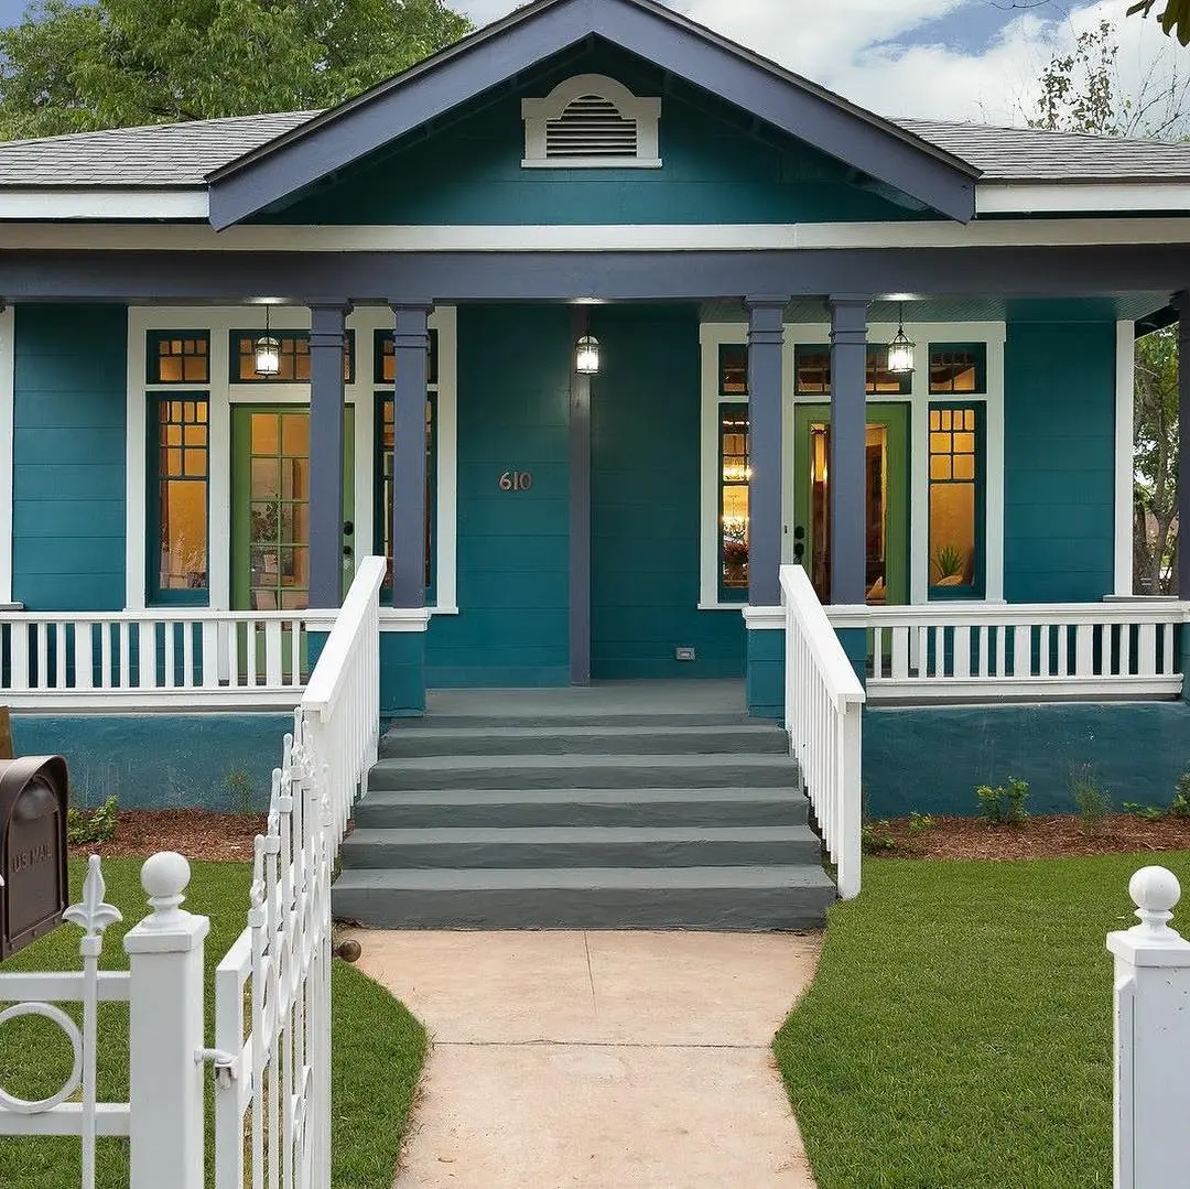
[{"label": "purple-gray porch column, left one of the right-hand pair", "polygon": [[788,298],[747,299],[749,602],[781,602],[781,394]]}]

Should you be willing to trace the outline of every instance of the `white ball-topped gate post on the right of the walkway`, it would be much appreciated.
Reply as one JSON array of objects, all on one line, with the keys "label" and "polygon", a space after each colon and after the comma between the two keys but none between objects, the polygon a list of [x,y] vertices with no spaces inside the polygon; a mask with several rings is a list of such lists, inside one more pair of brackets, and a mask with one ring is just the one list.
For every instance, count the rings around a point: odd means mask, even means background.
[{"label": "white ball-topped gate post on the right of the walkway", "polygon": [[1115,1189],[1180,1184],[1190,1168],[1190,941],[1169,921],[1182,889],[1146,866],[1128,884],[1141,924],[1108,934],[1115,956]]}]

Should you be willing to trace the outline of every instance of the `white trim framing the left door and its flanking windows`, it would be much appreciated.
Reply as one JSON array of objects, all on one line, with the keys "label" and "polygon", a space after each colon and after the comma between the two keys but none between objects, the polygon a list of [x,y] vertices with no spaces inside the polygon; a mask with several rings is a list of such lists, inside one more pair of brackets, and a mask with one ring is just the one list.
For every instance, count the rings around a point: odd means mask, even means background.
[{"label": "white trim framing the left door and its flanking windows", "polygon": [[[308,330],[309,311],[303,306],[274,306],[270,325],[277,330]],[[456,315],[453,307],[443,306],[430,318],[438,331],[438,401],[437,401],[437,606],[436,614],[457,614],[457,502],[455,493],[457,442],[457,365]],[[392,330],[392,313],[383,306],[362,306],[347,317],[347,328],[355,331],[355,381],[345,386],[344,403],[355,415],[355,540],[356,557],[372,552],[375,534],[374,474],[375,394],[383,389],[372,380],[372,334]],[[264,307],[196,306],[149,307],[129,309],[127,346],[127,437],[126,458],[126,578],[125,607],[142,611],[146,606],[148,558],[148,459],[146,394],[205,393],[208,398],[209,487],[208,550],[211,609],[231,607],[231,409],[238,403],[309,405],[309,384],[232,383],[230,338],[233,330],[263,330]],[[211,332],[211,382],[208,384],[146,384],[145,339],[154,330],[208,330]],[[2,363],[0,363],[2,365]],[[10,507],[11,507],[10,500]]]}]

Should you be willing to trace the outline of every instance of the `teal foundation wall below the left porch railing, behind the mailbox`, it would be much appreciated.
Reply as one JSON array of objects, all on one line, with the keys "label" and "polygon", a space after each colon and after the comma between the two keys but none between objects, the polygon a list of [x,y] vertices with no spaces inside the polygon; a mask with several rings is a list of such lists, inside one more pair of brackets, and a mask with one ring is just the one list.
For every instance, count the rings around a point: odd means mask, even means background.
[{"label": "teal foundation wall below the left porch railing, behind the mailbox", "polygon": [[18,756],[65,756],[71,800],[263,812],[292,714],[14,714]]}]

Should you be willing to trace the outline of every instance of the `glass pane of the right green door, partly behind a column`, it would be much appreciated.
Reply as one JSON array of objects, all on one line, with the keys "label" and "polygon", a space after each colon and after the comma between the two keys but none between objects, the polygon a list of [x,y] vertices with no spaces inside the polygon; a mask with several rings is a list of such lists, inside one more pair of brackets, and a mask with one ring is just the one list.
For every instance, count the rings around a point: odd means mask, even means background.
[{"label": "glass pane of the right green door, partly behind a column", "polygon": [[[888,426],[869,425],[864,459],[866,503],[866,571],[865,589],[869,603],[888,601]],[[818,596],[827,602],[831,596],[831,426],[810,425],[810,581]]]}]

